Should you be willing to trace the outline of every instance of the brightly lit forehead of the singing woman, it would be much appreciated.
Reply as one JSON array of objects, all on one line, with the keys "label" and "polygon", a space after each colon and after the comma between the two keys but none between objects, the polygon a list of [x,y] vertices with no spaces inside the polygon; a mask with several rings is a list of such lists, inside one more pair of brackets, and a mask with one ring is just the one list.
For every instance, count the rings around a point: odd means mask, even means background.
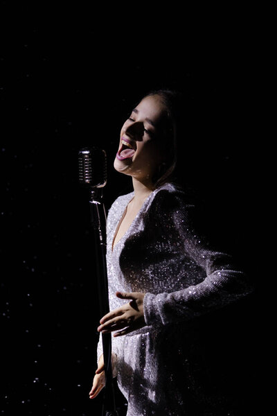
[{"label": "brightly lit forehead of the singing woman", "polygon": [[161,121],[166,114],[166,107],[157,95],[143,98],[136,110],[141,118],[148,118],[154,123]]}]

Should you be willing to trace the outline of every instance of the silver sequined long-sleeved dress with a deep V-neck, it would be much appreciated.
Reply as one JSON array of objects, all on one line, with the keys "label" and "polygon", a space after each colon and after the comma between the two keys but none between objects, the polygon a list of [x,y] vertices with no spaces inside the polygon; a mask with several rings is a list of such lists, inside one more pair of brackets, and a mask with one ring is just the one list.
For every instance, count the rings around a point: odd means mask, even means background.
[{"label": "silver sequined long-sleeved dress with a deep V-neck", "polygon": [[[122,239],[114,234],[134,193],[120,196],[107,216],[110,310],[126,300],[116,291],[143,292],[147,326],[112,338],[118,387],[127,416],[235,415],[217,397],[203,370],[199,317],[251,291],[231,257],[195,232],[193,205],[172,184],[154,190]],[[201,318],[200,318],[201,319]],[[102,354],[101,338],[98,359]]]}]

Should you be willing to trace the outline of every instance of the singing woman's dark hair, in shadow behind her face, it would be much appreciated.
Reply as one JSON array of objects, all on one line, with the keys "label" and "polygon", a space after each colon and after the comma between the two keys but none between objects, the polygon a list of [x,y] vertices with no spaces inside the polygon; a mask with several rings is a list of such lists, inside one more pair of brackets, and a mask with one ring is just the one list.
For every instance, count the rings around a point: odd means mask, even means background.
[{"label": "singing woman's dark hair, in shadow behind her face", "polygon": [[[157,95],[166,107],[166,123],[163,128],[163,140],[161,146],[163,153],[166,154],[166,160],[159,166],[159,171],[154,177],[155,187],[158,188],[172,180],[177,164],[177,137],[179,133],[179,121],[184,112],[184,98],[181,92],[171,89],[152,90],[145,97]],[[144,97],[144,98],[145,98]]]}]

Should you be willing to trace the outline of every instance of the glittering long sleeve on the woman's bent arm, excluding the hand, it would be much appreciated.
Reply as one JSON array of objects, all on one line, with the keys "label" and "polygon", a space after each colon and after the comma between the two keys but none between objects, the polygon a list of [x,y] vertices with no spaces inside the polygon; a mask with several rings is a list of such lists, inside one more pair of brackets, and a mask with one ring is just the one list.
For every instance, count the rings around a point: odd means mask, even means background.
[{"label": "glittering long sleeve on the woman's bent arm, excluding the hand", "polygon": [[144,315],[148,325],[191,320],[253,291],[249,277],[233,266],[232,257],[211,249],[205,238],[195,232],[191,215],[193,209],[193,205],[186,205],[182,198],[172,195],[170,200],[160,198],[159,204],[153,209],[156,222],[163,227],[163,232],[170,230],[170,236],[178,241],[184,256],[195,265],[194,270],[203,271],[201,275],[204,279],[173,293],[146,293]]}]

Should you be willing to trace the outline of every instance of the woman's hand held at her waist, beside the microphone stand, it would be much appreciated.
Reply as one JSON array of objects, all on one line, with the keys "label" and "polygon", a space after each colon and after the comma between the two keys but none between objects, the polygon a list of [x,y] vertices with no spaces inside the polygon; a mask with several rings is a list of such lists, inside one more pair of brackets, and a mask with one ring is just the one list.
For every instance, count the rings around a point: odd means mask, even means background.
[{"label": "woman's hand held at her waist, beside the microphone stand", "polygon": [[145,327],[146,323],[143,314],[143,299],[145,293],[116,292],[116,296],[120,297],[120,299],[131,300],[127,304],[103,316],[100,320],[100,327],[97,330],[102,333],[118,331],[114,333],[114,336],[121,336]]}]

